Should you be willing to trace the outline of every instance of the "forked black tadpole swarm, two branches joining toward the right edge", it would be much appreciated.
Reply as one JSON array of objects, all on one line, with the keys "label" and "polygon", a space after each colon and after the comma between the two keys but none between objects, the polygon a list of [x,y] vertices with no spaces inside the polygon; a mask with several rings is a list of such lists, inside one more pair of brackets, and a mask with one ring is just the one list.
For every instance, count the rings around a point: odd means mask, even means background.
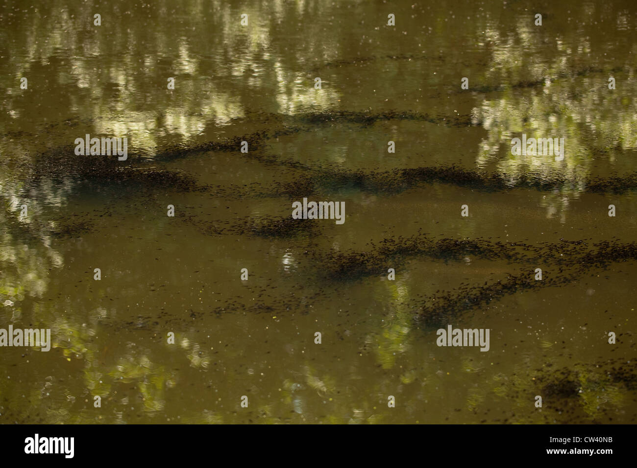
[{"label": "forked black tadpole swarm, two branches joining toward the right edge", "polygon": [[[426,299],[412,299],[415,317],[427,326],[439,327],[461,313],[475,310],[523,290],[566,285],[605,269],[613,262],[637,259],[637,243],[619,241],[561,241],[559,243],[505,243],[489,239],[433,239],[427,234],[384,239],[369,250],[312,253],[324,280],[352,281],[386,274],[388,266],[401,267],[408,260],[431,259],[445,262],[501,260],[518,264],[517,274],[482,285],[461,283],[452,291],[436,292]],[[535,279],[535,268],[543,269],[543,279]]]}]

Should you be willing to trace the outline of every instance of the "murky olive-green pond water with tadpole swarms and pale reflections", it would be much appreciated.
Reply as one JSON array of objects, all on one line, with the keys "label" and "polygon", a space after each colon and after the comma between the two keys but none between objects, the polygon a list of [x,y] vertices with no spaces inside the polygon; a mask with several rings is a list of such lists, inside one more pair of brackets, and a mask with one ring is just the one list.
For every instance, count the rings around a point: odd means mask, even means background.
[{"label": "murky olive-green pond water with tadpole swarms and pale reflections", "polygon": [[0,422],[635,421],[634,2],[0,5]]}]

